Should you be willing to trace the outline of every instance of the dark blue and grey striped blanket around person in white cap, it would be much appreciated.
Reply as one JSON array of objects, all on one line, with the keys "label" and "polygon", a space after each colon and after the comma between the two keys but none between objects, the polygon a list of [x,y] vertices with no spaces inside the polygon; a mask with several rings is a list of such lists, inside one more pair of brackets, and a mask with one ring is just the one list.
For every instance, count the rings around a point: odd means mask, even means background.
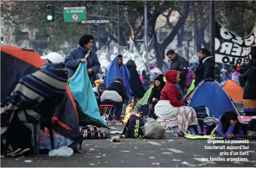
[{"label": "dark blue and grey striped blanket around person in white cap", "polygon": [[21,78],[1,103],[1,134],[11,123],[35,123],[41,116],[51,116],[67,85],[68,72],[64,64],[45,63],[39,71]]}]

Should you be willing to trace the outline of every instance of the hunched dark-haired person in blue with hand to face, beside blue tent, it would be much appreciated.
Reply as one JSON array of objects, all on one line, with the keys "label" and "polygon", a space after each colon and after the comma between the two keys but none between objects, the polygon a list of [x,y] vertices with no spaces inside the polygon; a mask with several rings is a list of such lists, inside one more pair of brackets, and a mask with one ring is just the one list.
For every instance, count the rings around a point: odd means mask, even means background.
[{"label": "hunched dark-haired person in blue with hand to face, beside blue tent", "polygon": [[224,112],[219,117],[218,136],[226,139],[244,138],[245,133],[234,111]]}]

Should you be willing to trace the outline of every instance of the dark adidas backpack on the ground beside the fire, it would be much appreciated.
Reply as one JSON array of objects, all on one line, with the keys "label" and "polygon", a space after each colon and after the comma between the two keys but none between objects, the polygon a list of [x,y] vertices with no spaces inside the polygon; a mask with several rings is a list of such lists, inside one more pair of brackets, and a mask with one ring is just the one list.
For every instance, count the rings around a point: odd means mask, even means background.
[{"label": "dark adidas backpack on the ground beside the fire", "polygon": [[131,115],[127,124],[125,125],[122,135],[125,135],[125,138],[139,138],[143,136],[142,126],[144,126],[144,121],[142,117],[137,117],[136,115]]}]

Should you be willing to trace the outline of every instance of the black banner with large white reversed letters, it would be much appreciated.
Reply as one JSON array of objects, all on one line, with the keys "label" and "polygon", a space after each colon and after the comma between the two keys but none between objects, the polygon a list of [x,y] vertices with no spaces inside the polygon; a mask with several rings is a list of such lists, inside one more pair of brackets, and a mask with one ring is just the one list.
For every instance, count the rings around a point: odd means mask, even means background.
[{"label": "black banner with large white reversed letters", "polygon": [[251,47],[256,46],[256,25],[252,33],[239,37],[215,21],[215,61],[228,65],[246,65],[251,59]]}]

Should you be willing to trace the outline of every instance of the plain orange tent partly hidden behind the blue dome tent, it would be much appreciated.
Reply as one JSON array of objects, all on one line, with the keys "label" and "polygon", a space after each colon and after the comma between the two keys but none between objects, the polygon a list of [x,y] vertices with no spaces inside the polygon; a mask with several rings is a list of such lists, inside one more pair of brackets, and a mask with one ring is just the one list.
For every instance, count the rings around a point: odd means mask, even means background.
[{"label": "plain orange tent partly hidden behind the blue dome tent", "polygon": [[237,82],[233,80],[226,80],[223,87],[226,90],[227,94],[230,95],[233,102],[244,101],[244,99],[242,99],[242,94],[244,93],[244,89],[242,89],[242,87]]}]

